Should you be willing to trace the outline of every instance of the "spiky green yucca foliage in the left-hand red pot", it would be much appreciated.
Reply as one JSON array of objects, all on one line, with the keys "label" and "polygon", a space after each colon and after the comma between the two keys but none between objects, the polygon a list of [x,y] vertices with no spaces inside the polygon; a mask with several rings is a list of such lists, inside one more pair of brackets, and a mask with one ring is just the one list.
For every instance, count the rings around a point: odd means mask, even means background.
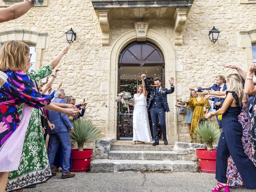
[{"label": "spiky green yucca foliage in the left-hand red pot", "polygon": [[101,138],[101,131],[98,130],[91,120],[78,119],[72,122],[74,132],[70,133],[70,141],[78,143],[95,142]]}]

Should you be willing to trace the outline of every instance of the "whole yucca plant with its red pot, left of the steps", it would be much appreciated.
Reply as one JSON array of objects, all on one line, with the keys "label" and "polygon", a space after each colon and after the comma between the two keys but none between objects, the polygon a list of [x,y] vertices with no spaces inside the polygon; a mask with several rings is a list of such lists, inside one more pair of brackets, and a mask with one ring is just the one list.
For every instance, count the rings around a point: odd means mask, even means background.
[{"label": "whole yucca plant with its red pot, left of the steps", "polygon": [[78,149],[71,150],[71,172],[83,172],[90,169],[92,149],[84,149],[84,143],[95,142],[101,137],[91,120],[78,119],[72,122],[74,132],[70,133],[70,141],[77,142]]}]

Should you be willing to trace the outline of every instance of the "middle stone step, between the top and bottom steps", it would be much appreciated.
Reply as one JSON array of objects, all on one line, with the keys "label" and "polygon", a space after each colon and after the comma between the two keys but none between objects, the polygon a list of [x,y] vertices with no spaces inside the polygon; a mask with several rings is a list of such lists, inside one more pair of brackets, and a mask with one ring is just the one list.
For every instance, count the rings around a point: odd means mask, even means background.
[{"label": "middle stone step, between the top and bottom steps", "polygon": [[182,160],[182,157],[174,151],[128,151],[114,150],[108,154],[109,159],[127,159],[127,160]]}]

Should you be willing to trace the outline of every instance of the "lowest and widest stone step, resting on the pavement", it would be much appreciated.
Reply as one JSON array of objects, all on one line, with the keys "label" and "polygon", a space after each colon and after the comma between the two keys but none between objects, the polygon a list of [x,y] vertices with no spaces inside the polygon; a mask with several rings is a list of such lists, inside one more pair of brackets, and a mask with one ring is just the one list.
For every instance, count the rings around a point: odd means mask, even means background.
[{"label": "lowest and widest stone step, resting on the pavement", "polygon": [[91,162],[90,172],[197,172],[198,168],[192,161],[170,160],[116,160],[96,159]]}]

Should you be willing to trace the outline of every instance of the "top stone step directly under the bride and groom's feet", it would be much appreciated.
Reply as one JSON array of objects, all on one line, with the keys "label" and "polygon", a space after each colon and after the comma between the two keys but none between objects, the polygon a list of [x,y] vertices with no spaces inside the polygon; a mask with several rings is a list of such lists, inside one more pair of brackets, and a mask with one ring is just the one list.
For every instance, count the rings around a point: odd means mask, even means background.
[{"label": "top stone step directly under the bride and groom's feet", "polygon": [[128,150],[128,151],[172,151],[173,145],[164,145],[164,142],[159,142],[159,145],[152,146],[151,143],[132,145],[132,142],[111,144],[111,150]]}]

